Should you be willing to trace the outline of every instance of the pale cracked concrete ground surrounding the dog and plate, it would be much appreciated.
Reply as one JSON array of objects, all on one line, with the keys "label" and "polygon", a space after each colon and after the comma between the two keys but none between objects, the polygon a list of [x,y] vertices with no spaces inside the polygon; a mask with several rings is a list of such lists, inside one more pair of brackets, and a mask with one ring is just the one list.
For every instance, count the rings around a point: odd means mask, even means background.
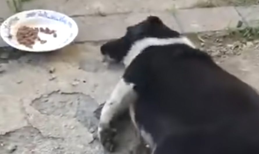
[{"label": "pale cracked concrete ground surrounding the dog and plate", "polygon": [[[235,27],[240,20],[245,26],[257,24],[258,6],[174,12],[175,8],[188,8],[196,1],[162,0],[159,3],[161,5],[157,5],[156,0],[25,3],[25,9],[46,8],[72,16],[79,24],[80,33],[74,44],[50,53],[0,48],[0,153],[103,153],[96,139],[98,119],[94,111],[109,96],[124,67],[103,64],[99,48],[106,40],[121,36],[126,26],[147,15],[159,15],[168,26],[183,33],[222,30]],[[0,5],[6,4],[0,1]],[[2,8],[3,20],[12,12],[7,7]],[[215,13],[219,10],[227,14],[222,20],[222,14]],[[206,18],[205,14],[208,20],[200,17]],[[217,20],[209,20],[210,15]],[[232,24],[229,19],[233,19]],[[258,41],[240,41],[215,33],[195,35],[193,40],[223,68],[259,89]],[[0,45],[6,46],[3,42]],[[116,153],[132,153],[137,144],[134,130],[127,119],[122,121],[118,126]]]}]

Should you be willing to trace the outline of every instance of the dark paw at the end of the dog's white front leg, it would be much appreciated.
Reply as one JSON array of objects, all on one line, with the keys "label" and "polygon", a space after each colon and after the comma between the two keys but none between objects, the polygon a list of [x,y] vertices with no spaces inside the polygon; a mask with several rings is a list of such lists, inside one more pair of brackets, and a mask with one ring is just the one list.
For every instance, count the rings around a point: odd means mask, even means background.
[{"label": "dark paw at the end of the dog's white front leg", "polygon": [[111,127],[98,127],[98,136],[100,142],[105,150],[109,152],[113,152],[115,149],[115,144],[113,141],[114,136],[116,135],[116,129]]}]

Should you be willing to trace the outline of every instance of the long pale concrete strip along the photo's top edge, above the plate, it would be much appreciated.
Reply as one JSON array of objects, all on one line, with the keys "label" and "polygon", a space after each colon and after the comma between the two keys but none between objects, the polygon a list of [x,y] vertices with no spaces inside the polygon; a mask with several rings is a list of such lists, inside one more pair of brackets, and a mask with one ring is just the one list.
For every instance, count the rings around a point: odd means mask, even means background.
[{"label": "long pale concrete strip along the photo's top edge, above the plate", "polygon": [[45,0],[24,3],[24,9],[50,9],[67,15],[99,15],[100,12],[111,15],[189,8],[199,1],[206,0],[162,0],[159,5],[157,0]]}]

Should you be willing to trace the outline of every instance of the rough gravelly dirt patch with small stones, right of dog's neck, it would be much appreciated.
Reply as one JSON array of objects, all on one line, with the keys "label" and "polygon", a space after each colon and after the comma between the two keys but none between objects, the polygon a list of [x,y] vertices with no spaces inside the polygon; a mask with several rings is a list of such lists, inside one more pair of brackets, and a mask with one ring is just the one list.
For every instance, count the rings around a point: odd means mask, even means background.
[{"label": "rough gravelly dirt patch with small stones, right of dog's neck", "polygon": [[187,34],[187,36],[199,49],[207,52],[218,63],[259,46],[258,39],[249,38],[248,40],[247,37],[241,37],[240,33],[233,31]]}]

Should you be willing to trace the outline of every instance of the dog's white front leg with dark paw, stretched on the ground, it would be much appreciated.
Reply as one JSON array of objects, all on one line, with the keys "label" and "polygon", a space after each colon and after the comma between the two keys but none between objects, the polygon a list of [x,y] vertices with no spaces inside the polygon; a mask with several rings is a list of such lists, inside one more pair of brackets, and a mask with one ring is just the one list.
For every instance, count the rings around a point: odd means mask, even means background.
[{"label": "dog's white front leg with dark paw, stretched on the ground", "polygon": [[135,99],[136,94],[133,91],[133,85],[125,83],[123,78],[121,78],[111,93],[111,96],[104,104],[100,116],[98,135],[106,150],[114,150],[113,137],[116,130],[111,128],[111,121],[113,121],[120,113],[128,109],[129,103],[135,101]]}]

